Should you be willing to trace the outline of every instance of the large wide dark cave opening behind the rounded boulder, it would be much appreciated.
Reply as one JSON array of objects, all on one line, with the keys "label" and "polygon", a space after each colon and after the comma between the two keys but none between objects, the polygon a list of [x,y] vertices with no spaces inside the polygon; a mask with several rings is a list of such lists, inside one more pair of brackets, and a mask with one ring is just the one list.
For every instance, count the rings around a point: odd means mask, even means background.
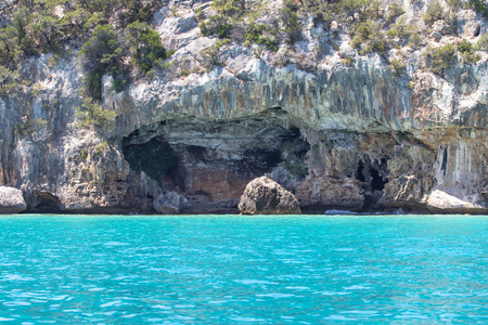
[{"label": "large wide dark cave opening behind the rounded boulder", "polygon": [[168,118],[124,138],[123,153],[132,171],[143,171],[163,191],[176,191],[195,206],[220,202],[236,211],[253,179],[297,161],[305,168],[296,169],[308,174],[310,145],[284,115],[272,108],[232,120]]}]

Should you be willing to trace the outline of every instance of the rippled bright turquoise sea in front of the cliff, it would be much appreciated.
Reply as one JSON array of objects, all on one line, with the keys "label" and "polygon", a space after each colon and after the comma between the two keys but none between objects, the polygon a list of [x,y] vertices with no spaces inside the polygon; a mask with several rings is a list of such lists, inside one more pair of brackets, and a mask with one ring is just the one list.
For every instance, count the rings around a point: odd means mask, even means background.
[{"label": "rippled bright turquoise sea in front of the cliff", "polygon": [[488,217],[0,216],[0,323],[487,324]]}]

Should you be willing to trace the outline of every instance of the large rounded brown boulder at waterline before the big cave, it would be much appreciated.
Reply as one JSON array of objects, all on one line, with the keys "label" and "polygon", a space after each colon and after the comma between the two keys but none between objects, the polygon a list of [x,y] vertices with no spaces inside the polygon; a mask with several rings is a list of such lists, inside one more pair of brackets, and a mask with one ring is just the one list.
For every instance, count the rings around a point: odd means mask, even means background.
[{"label": "large rounded brown boulder at waterline before the big cave", "polygon": [[300,214],[295,195],[267,177],[251,181],[239,203],[244,214]]}]

